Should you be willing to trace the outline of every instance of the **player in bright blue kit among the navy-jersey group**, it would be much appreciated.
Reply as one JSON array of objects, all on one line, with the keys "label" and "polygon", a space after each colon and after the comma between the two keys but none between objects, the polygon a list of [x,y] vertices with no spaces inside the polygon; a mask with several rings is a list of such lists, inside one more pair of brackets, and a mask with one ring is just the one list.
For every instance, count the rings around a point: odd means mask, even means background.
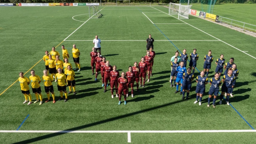
[{"label": "player in bright blue kit among the navy-jersey group", "polygon": [[180,66],[177,67],[177,78],[176,78],[176,91],[175,93],[178,93],[179,91],[179,82],[180,82],[180,95],[182,95],[182,83],[183,83],[183,73],[187,72],[187,69],[184,67],[184,62],[179,63]]}]

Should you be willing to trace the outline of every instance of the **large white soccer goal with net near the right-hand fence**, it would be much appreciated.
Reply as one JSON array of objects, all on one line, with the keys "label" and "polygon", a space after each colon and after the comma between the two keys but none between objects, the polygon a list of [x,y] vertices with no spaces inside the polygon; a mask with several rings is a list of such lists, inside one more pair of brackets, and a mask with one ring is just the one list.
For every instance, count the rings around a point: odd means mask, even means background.
[{"label": "large white soccer goal with net near the right-hand fence", "polygon": [[169,15],[178,15],[178,19],[188,19],[192,5],[169,3]]}]

